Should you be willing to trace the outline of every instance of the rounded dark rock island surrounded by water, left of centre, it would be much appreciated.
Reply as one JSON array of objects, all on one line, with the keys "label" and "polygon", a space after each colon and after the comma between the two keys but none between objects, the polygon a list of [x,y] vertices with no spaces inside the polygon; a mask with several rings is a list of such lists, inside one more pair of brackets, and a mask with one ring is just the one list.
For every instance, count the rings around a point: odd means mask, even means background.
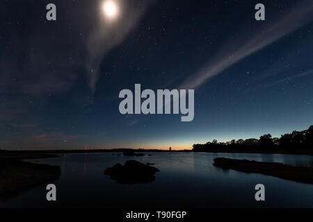
[{"label": "rounded dark rock island surrounded by water, left of centre", "polygon": [[154,173],[159,169],[150,167],[136,160],[128,160],[124,166],[115,164],[104,171],[104,174],[109,175],[111,179],[122,184],[145,183],[155,180]]}]

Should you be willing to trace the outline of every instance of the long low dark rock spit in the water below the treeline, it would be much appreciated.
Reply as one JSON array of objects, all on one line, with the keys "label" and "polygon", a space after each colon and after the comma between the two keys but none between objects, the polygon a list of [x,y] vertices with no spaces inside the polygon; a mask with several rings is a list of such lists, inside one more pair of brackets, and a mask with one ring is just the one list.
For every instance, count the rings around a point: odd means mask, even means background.
[{"label": "long low dark rock spit in the water below the treeline", "polygon": [[282,163],[236,160],[224,157],[215,158],[213,165],[222,169],[234,169],[246,173],[262,173],[285,180],[313,184],[312,167],[294,167]]}]

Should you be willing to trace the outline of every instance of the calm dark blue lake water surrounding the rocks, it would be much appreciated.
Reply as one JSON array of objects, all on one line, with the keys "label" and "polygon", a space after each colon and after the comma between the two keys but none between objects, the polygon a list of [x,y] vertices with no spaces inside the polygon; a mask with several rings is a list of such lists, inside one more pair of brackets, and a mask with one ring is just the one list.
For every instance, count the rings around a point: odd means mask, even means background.
[{"label": "calm dark blue lake water surrounding the rocks", "polygon": [[[47,202],[45,185],[33,187],[0,207],[313,207],[313,185],[257,173],[223,171],[215,157],[313,167],[313,156],[230,153],[151,153],[124,157],[112,153],[66,154],[39,163],[58,165],[57,201]],[[160,169],[147,184],[119,185],[104,169],[126,160],[154,162]],[[33,161],[33,160],[32,160]],[[266,201],[255,201],[255,185],[265,185]]]}]

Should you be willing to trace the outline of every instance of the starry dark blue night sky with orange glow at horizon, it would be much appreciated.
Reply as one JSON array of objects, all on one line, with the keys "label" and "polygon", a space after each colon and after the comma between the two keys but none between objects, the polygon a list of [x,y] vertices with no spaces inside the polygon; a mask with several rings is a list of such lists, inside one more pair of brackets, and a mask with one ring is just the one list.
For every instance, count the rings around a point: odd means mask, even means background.
[{"label": "starry dark blue night sky with orange glow at horizon", "polygon": [[[110,21],[103,0],[1,1],[2,149],[192,148],[313,124],[312,1],[114,1]],[[195,89],[193,121],[120,114],[135,83]]]}]

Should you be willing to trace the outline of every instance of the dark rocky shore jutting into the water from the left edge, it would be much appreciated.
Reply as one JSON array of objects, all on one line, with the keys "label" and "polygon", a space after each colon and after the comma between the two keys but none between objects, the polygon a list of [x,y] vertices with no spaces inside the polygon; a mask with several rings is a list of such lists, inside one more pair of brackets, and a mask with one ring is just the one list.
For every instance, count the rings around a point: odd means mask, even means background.
[{"label": "dark rocky shore jutting into the water from the left edge", "polygon": [[19,191],[56,180],[60,175],[60,167],[0,158],[0,198],[8,198]]}]

